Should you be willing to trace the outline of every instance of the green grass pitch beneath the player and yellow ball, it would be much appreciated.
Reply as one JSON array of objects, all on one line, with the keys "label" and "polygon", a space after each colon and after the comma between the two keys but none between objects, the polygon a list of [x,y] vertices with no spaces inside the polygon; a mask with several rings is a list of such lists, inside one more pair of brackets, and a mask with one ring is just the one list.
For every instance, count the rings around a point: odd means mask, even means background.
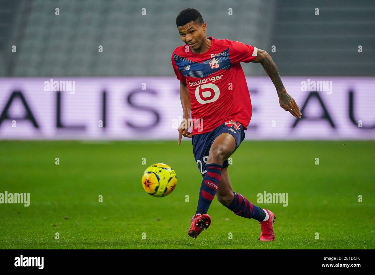
[{"label": "green grass pitch beneath the player and yellow ball", "polygon": [[[265,243],[256,220],[216,199],[210,228],[195,240],[187,236],[202,177],[186,138],[180,146],[0,141],[0,193],[30,193],[29,207],[0,204],[0,247],[374,249],[374,153],[374,141],[243,142],[228,170],[234,190],[254,204],[264,191],[288,193],[287,207],[259,205],[276,215],[275,241]],[[143,171],[157,162],[172,166],[178,178],[163,198],[141,186]]]}]

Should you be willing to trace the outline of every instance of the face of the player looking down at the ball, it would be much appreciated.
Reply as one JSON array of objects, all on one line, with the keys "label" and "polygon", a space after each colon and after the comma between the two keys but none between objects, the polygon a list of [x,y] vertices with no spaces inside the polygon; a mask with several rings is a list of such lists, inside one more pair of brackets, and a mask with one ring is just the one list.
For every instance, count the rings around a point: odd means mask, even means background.
[{"label": "face of the player looking down at the ball", "polygon": [[190,48],[196,50],[201,48],[202,43],[204,42],[206,28],[206,23],[200,25],[191,21],[186,25],[178,27],[178,32],[180,33],[181,40],[189,45]]}]

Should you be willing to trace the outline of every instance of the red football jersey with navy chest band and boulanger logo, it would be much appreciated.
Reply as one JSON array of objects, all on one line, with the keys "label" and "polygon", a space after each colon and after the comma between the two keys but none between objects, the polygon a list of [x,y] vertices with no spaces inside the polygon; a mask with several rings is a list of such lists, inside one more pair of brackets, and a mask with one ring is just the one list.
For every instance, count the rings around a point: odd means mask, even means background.
[{"label": "red football jersey with navy chest band and boulanger logo", "polygon": [[257,48],[228,39],[211,39],[210,49],[194,54],[188,45],[172,53],[177,79],[186,82],[191,100],[194,134],[212,131],[227,120],[237,120],[244,129],[249,125],[252,107],[248,85],[240,62],[257,57]]}]

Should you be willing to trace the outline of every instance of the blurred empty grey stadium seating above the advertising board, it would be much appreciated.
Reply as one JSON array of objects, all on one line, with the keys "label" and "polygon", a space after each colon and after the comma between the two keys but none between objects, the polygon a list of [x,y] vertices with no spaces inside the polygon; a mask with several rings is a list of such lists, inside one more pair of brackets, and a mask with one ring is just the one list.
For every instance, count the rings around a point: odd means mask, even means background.
[{"label": "blurred empty grey stadium seating above the advertising board", "polygon": [[[269,51],[282,76],[375,75],[371,0],[0,3],[3,77],[173,76],[169,57],[182,43],[175,18],[186,7],[201,12],[207,36]],[[142,8],[146,15],[141,15]],[[12,45],[17,45],[17,54],[11,54]],[[104,46],[102,54],[98,45]],[[265,75],[256,65],[243,69],[245,75]]]}]

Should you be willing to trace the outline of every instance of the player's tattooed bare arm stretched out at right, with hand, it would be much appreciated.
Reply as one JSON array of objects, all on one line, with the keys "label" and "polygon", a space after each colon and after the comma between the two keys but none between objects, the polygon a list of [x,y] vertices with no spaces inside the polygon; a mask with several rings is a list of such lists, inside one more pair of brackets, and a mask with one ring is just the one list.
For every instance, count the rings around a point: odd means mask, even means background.
[{"label": "player's tattooed bare arm stretched out at right, with hand", "polygon": [[278,68],[276,67],[275,62],[273,62],[269,53],[258,49],[257,57],[251,62],[260,63],[263,66],[264,70],[272,80],[273,85],[275,85],[276,91],[278,92],[280,107],[285,111],[289,111],[291,114],[293,114],[293,116],[301,118],[301,109],[298,107],[293,97],[291,97],[291,95],[288,94],[287,90],[284,88]]}]

